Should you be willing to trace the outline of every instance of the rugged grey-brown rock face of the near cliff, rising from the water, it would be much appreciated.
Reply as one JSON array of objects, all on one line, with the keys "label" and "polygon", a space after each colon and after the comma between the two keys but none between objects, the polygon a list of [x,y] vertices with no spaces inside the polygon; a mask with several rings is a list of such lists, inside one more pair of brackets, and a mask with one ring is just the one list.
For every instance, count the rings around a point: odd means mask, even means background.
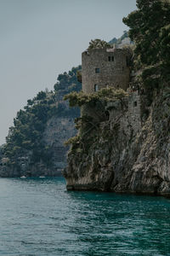
[{"label": "rugged grey-brown rock face of the near cliff, rising from the water", "polygon": [[149,108],[137,90],[109,102],[110,119],[72,146],[67,189],[170,195],[169,95]]}]

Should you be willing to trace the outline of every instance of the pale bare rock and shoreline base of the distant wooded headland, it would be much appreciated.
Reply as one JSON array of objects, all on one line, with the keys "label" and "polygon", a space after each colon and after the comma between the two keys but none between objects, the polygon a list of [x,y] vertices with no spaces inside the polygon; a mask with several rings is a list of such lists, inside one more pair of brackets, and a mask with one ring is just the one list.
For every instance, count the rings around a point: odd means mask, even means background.
[{"label": "pale bare rock and shoreline base of the distant wooded headland", "polygon": [[1,155],[0,177],[39,177],[60,176],[62,169],[66,166],[68,147],[64,143],[69,137],[76,134],[74,119],[68,117],[53,116],[48,120],[42,141],[50,148],[49,166],[42,161],[32,162],[32,151],[27,151],[17,159],[18,166],[8,166],[8,159]]}]

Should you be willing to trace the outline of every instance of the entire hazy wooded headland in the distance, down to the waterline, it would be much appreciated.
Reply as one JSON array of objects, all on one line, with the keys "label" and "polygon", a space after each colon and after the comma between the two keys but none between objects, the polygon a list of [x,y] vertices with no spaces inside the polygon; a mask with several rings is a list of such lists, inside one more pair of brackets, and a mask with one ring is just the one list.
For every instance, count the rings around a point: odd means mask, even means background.
[{"label": "entire hazy wooded headland in the distance, down to the waterline", "polygon": [[0,177],[59,176],[66,165],[64,142],[76,134],[77,108],[69,108],[63,96],[79,91],[79,67],[60,74],[53,91],[40,91],[27,101],[9,128],[7,143],[0,148]]}]

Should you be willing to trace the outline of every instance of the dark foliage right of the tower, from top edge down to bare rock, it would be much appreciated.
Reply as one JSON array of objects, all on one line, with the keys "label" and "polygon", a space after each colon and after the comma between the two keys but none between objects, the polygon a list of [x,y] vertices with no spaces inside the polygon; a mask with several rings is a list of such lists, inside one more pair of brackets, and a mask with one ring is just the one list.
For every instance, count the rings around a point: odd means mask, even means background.
[{"label": "dark foliage right of the tower, from top edge down to bare rock", "polygon": [[135,67],[143,70],[140,79],[150,94],[170,82],[170,1],[137,0],[137,8],[123,22],[130,27]]}]

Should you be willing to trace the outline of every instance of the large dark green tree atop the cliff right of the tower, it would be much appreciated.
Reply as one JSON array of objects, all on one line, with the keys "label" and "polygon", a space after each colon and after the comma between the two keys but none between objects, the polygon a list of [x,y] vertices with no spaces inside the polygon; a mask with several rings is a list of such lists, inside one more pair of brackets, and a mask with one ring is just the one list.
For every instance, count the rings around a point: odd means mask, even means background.
[{"label": "large dark green tree atop the cliff right of the tower", "polygon": [[170,1],[137,0],[137,8],[123,22],[130,27],[129,37],[136,45],[139,67],[156,65],[163,75],[161,65],[170,59]]}]

